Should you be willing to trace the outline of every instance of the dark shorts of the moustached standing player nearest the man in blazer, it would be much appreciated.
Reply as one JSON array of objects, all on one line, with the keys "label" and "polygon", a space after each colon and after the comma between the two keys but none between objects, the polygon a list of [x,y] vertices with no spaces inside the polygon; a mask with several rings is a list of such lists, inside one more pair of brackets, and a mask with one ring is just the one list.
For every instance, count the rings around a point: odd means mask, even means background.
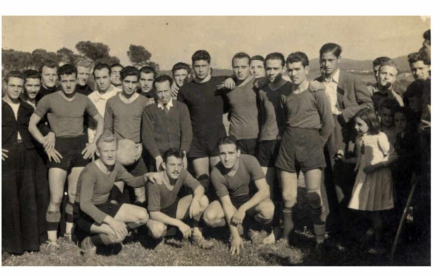
[{"label": "dark shorts of the moustached standing player nearest the man in blazer", "polygon": [[275,166],[290,173],[325,168],[324,145],[319,130],[287,127]]}]

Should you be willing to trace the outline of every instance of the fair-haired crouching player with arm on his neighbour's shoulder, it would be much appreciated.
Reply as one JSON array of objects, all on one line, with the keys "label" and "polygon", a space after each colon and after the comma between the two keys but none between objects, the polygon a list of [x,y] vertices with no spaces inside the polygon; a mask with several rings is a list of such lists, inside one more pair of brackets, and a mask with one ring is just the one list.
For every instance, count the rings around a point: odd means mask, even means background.
[{"label": "fair-haired crouching player with arm on his neighbour's shoulder", "polygon": [[[116,181],[132,187],[146,185],[152,175],[134,177],[116,161],[117,139],[113,134],[99,137],[96,147],[98,160],[81,172],[73,205],[74,241],[81,241],[84,257],[90,257],[96,246],[120,243],[128,231],[148,221],[145,208],[132,204],[112,203],[110,191]],[[150,177],[152,181],[152,176]]]}]

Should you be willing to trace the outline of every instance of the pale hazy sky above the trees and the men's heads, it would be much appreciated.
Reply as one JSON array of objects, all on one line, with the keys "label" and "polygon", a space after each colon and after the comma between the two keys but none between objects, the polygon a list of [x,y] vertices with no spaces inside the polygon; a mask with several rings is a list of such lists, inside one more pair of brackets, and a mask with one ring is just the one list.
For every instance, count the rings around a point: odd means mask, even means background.
[{"label": "pale hazy sky above the trees and the men's heads", "polygon": [[215,68],[230,68],[232,56],[294,51],[318,57],[327,42],[343,47],[343,58],[366,60],[407,55],[421,47],[430,19],[420,17],[2,17],[3,49],[32,52],[75,49],[79,41],[101,42],[129,64],[130,44],[142,45],[162,70],[190,63],[207,50]]}]

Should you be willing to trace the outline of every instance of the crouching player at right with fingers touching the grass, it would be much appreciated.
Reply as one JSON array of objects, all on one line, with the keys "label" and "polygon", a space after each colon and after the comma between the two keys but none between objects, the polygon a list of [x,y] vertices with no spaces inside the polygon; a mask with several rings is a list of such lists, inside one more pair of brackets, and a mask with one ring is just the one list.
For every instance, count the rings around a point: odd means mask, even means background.
[{"label": "crouching player at right with fingers touching the grass", "polygon": [[[240,254],[243,240],[240,237],[243,220],[246,215],[268,228],[275,206],[270,200],[269,185],[260,163],[251,155],[240,155],[237,141],[232,136],[218,142],[220,160],[211,171],[211,181],[220,201],[209,204],[203,214],[203,220],[211,227],[225,225],[225,218],[231,229],[231,253]],[[223,208],[222,208],[223,206]],[[262,241],[257,232],[248,232],[252,242]]]}]

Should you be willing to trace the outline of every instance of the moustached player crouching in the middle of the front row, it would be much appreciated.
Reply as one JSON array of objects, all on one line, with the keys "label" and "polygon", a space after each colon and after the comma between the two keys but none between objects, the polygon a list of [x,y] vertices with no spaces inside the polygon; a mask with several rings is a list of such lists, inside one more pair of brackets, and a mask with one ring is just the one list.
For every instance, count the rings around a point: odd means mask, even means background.
[{"label": "moustached player crouching in the middle of the front row", "polygon": [[[183,151],[172,148],[164,153],[163,171],[157,173],[160,179],[148,183],[148,211],[151,219],[147,222],[150,235],[159,240],[156,249],[162,247],[167,225],[179,228],[183,238],[191,236],[192,242],[202,249],[210,249],[214,243],[203,238],[199,227],[200,217],[209,204],[204,188],[183,169]],[[185,185],[192,189],[192,195],[179,198],[178,193]],[[190,218],[190,226],[182,220]],[[191,234],[192,228],[192,234]]]}]

